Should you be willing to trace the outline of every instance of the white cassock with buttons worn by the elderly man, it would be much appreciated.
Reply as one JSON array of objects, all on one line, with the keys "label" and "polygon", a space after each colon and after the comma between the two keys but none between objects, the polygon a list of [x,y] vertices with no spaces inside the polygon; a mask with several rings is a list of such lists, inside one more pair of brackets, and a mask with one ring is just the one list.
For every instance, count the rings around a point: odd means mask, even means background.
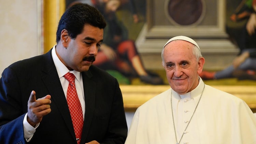
[{"label": "white cassock with buttons worn by the elderly man", "polygon": [[[179,96],[172,89],[150,99],[134,114],[125,144],[256,144],[256,117],[238,97],[205,85]],[[195,107],[201,100],[187,130]]]}]

